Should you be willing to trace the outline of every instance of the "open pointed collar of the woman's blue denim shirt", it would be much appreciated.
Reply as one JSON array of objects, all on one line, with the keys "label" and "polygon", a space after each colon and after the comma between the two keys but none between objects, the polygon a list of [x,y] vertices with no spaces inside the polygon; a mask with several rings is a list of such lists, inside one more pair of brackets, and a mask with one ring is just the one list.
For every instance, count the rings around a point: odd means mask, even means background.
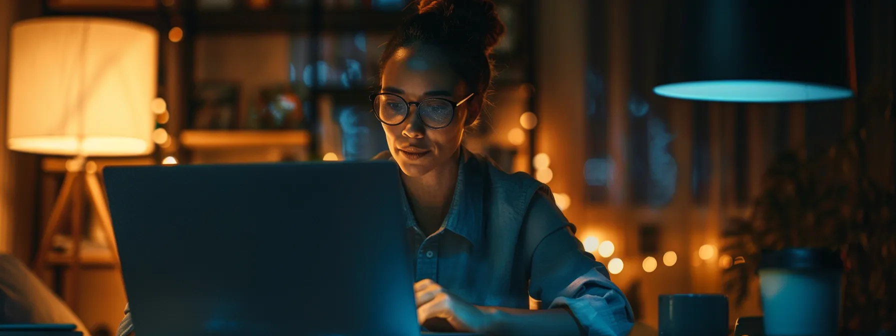
[{"label": "open pointed collar of the woman's blue denim shirt", "polygon": [[[466,238],[470,244],[477,246],[482,240],[482,203],[484,171],[478,164],[478,159],[461,146],[461,155],[458,162],[457,184],[454,186],[451,209],[445,217],[443,228]],[[405,211],[412,213],[409,208],[407,195],[405,198]],[[414,228],[417,221],[413,216],[408,216],[406,228]]]}]

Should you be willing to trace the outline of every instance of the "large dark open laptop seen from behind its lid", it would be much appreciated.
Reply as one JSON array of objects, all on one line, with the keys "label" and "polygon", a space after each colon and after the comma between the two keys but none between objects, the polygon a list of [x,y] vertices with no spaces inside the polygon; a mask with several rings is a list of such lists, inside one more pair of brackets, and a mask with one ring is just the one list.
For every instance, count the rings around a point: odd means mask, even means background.
[{"label": "large dark open laptop seen from behind its lid", "polygon": [[394,162],[103,175],[139,335],[421,334]]}]

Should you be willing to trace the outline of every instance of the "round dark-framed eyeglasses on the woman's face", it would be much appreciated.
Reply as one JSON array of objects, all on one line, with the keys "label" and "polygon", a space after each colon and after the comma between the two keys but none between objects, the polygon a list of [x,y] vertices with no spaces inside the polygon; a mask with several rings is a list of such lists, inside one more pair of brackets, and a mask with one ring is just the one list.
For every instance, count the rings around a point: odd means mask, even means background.
[{"label": "round dark-framed eyeglasses on the woman's face", "polygon": [[470,93],[460,102],[444,98],[430,98],[422,101],[407,101],[394,93],[375,93],[370,96],[374,102],[374,114],[385,125],[401,125],[410,114],[410,106],[417,106],[417,117],[426,128],[437,130],[447,127],[454,119],[454,111],[473,97]]}]

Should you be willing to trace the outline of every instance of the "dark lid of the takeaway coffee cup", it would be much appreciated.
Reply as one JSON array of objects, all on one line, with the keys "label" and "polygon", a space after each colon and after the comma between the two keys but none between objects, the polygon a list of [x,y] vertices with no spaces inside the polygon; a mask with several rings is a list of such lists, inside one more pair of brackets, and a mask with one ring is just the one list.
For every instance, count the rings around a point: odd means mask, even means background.
[{"label": "dark lid of the takeaway coffee cup", "polygon": [[759,269],[842,271],[840,252],[826,248],[785,248],[762,251]]}]

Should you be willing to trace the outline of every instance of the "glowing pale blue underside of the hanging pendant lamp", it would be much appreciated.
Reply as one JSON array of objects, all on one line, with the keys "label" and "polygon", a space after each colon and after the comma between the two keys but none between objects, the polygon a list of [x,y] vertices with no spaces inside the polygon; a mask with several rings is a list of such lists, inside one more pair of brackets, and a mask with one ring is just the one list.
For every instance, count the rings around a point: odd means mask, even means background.
[{"label": "glowing pale blue underside of the hanging pendant lamp", "polygon": [[740,103],[785,103],[849,99],[852,90],[810,82],[705,81],[676,82],[653,88],[656,94],[675,99]]}]

